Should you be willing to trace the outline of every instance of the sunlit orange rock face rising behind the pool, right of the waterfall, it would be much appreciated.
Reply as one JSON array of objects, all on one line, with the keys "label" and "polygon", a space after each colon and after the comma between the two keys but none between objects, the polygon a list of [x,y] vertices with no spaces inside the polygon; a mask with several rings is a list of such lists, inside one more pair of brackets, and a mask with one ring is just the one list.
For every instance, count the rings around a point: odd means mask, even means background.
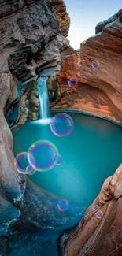
[{"label": "sunlit orange rock face rising behind the pool, right of the waterfall", "polygon": [[[65,94],[54,110],[76,109],[122,123],[121,10],[119,13],[114,21],[107,21],[102,32],[81,43],[79,51],[61,58],[58,80]],[[97,68],[91,66],[94,60],[99,63]],[[70,78],[79,80],[76,93],[68,87]]]}]

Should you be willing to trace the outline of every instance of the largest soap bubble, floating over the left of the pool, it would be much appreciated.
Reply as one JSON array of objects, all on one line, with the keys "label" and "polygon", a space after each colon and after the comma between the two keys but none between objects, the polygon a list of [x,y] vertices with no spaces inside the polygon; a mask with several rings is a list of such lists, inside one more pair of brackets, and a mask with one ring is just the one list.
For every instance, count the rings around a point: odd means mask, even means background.
[{"label": "largest soap bubble, floating over the left of the pool", "polygon": [[[28,150],[29,164],[39,172],[49,171],[54,167],[54,156],[58,154],[57,147],[48,140],[39,140],[31,145]],[[31,154],[33,158],[31,158]]]}]

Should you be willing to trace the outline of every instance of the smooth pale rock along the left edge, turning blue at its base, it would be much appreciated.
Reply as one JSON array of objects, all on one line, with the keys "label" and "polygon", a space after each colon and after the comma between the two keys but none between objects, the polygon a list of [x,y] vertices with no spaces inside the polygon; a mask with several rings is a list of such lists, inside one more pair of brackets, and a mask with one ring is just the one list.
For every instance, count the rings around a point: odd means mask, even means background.
[{"label": "smooth pale rock along the left edge, turning blue at its base", "polygon": [[[9,130],[4,108],[6,102],[13,102],[15,84],[10,72],[0,74],[0,236],[8,231],[9,225],[20,217],[18,207],[23,202],[24,176],[20,176],[13,167],[13,136]],[[13,96],[14,95],[14,96]],[[17,207],[16,207],[17,206]]]}]

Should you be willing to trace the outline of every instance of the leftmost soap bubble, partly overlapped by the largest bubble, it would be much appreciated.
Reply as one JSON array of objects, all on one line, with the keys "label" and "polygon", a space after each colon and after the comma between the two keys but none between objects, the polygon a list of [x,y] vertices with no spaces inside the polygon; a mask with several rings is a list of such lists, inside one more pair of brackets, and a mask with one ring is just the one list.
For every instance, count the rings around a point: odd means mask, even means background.
[{"label": "leftmost soap bubble, partly overlapped by the largest bubble", "polygon": [[[30,154],[31,161],[35,163],[35,159]],[[14,158],[14,168],[17,170],[18,173],[27,174],[26,168],[29,165],[28,163],[28,152],[21,152],[17,154],[16,158]]]}]

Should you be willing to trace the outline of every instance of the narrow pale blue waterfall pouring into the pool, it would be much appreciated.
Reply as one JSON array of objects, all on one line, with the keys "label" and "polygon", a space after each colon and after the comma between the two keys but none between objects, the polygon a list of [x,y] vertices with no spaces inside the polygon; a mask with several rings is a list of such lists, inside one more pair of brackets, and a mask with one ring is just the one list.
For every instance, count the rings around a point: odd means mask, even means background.
[{"label": "narrow pale blue waterfall pouring into the pool", "polygon": [[[44,79],[43,79],[44,78]],[[48,99],[48,90],[47,90],[47,77],[43,76],[38,79],[39,86],[39,117],[42,119],[47,118],[48,107],[49,107],[49,99]]]}]

